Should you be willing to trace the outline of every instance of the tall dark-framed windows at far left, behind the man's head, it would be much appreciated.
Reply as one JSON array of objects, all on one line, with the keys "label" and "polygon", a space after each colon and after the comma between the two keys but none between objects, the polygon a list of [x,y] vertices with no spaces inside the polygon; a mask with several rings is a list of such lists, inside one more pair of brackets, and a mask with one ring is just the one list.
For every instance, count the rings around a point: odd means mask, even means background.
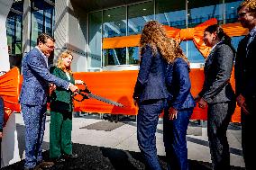
[{"label": "tall dark-framed windows at far left, behind the man's head", "polygon": [[[23,0],[15,0],[6,20],[6,35],[11,67],[21,67],[23,58]],[[36,46],[36,40],[41,32],[53,36],[54,26],[54,0],[32,0],[30,1],[31,23],[25,25],[31,28],[29,40],[30,48]],[[52,63],[52,58],[49,62]]]}]

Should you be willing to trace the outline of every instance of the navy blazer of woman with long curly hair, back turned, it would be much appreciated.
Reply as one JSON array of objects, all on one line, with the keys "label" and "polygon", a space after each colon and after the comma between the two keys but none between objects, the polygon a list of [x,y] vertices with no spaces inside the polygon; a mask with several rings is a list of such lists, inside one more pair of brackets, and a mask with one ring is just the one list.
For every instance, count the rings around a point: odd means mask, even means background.
[{"label": "navy blazer of woman with long curly hair, back turned", "polygon": [[153,54],[149,45],[142,48],[140,71],[134,87],[133,99],[143,102],[168,98],[165,85],[165,63],[159,51]]}]

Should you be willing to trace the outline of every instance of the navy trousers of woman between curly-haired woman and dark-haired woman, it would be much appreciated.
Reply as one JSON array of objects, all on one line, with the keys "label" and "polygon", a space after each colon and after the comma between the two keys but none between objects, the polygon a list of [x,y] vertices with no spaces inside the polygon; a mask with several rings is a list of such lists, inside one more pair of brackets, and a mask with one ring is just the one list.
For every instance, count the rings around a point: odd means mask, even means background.
[{"label": "navy trousers of woman between curly-haired woman and dark-haired woman", "polygon": [[169,110],[163,120],[163,141],[169,170],[187,170],[187,126],[194,108],[178,111],[177,119],[169,120]]}]

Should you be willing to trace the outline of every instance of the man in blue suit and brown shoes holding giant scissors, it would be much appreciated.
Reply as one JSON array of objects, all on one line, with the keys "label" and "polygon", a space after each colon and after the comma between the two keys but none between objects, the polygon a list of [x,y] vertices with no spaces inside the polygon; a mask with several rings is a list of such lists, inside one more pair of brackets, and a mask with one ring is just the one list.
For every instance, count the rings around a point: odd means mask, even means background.
[{"label": "man in blue suit and brown shoes holding giant scissors", "polygon": [[78,91],[76,85],[51,75],[47,68],[54,41],[49,35],[42,33],[37,39],[37,46],[23,58],[20,103],[25,124],[25,169],[35,169],[37,165],[53,166],[51,162],[43,162],[41,157],[49,83],[72,92]]}]

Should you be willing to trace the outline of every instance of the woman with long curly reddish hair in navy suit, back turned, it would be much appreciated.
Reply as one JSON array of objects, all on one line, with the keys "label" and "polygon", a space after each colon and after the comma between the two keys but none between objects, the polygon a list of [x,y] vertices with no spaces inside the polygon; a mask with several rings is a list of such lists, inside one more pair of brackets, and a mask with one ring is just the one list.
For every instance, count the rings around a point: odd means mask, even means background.
[{"label": "woman with long curly reddish hair in navy suit, back turned", "polygon": [[147,22],[140,40],[141,64],[134,88],[134,104],[139,106],[137,139],[146,166],[160,170],[157,157],[155,132],[160,112],[168,98],[165,85],[166,60],[169,56],[169,40],[159,22]]}]

